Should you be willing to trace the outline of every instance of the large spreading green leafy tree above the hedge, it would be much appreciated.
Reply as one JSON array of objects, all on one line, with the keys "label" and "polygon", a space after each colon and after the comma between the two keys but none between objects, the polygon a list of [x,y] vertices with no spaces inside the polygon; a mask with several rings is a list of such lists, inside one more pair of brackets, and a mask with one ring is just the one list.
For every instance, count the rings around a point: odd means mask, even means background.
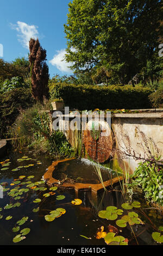
[{"label": "large spreading green leafy tree above the hedge", "polygon": [[74,70],[107,62],[117,82],[128,83],[158,48],[161,6],[160,0],[73,0],[65,25],[67,62]]}]

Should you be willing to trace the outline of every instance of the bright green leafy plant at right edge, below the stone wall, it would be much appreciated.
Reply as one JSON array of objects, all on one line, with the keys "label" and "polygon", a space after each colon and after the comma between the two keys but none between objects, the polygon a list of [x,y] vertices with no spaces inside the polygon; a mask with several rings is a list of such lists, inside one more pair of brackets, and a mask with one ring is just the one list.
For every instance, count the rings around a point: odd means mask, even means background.
[{"label": "bright green leafy plant at right edge, below the stone wall", "polygon": [[163,188],[163,169],[160,166],[147,161],[139,163],[139,167],[135,170],[133,176],[132,186],[142,188],[145,193],[145,198],[149,202],[162,204]]}]

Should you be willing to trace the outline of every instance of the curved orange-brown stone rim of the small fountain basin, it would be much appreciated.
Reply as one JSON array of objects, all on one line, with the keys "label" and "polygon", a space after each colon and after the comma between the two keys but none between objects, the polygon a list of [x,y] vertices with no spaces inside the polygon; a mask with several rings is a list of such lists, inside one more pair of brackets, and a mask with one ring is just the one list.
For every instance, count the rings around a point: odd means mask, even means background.
[{"label": "curved orange-brown stone rim of the small fountain basin", "polygon": [[[55,170],[55,167],[58,165],[58,163],[61,162],[66,162],[66,161],[70,161],[70,160],[74,160],[76,159],[75,157],[71,158],[71,159],[64,159],[64,160],[59,160],[59,161],[55,161],[52,163],[51,166],[48,167],[47,172],[43,175],[43,179],[46,180],[47,185],[52,187],[52,186],[59,186],[60,188],[71,188],[74,189],[76,192],[78,191],[92,191],[94,193],[97,193],[97,191],[99,190],[103,190],[103,185],[102,184],[83,184],[83,183],[79,183],[79,182],[75,182],[74,184],[72,183],[68,183],[65,182],[62,185],[58,184],[58,180],[53,178],[53,172]],[[104,181],[104,186],[108,187],[111,184],[115,184],[118,181],[122,180],[122,176],[120,176],[119,178],[113,178],[112,180],[106,180]]]}]

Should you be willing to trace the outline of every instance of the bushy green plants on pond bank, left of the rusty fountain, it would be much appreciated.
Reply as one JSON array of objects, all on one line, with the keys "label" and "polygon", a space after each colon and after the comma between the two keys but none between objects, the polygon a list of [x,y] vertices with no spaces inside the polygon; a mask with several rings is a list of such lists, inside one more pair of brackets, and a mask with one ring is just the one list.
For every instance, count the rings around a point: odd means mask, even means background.
[{"label": "bushy green plants on pond bank, left of the rusty fountain", "polygon": [[[49,153],[58,157],[72,157],[74,151],[67,142],[64,133],[51,132],[49,113],[45,106],[37,103],[32,108],[26,109],[12,126],[10,136],[17,139],[14,147],[29,147],[35,153]],[[22,160],[20,160],[22,161]]]}]

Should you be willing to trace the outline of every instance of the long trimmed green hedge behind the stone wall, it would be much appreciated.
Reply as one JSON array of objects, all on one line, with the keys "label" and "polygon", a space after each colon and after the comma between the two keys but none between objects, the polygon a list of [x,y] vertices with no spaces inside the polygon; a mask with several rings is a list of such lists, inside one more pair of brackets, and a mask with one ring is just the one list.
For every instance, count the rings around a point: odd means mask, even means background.
[{"label": "long trimmed green hedge behind the stone wall", "polygon": [[87,86],[58,83],[53,87],[53,95],[61,97],[65,106],[79,110],[99,109],[139,109],[152,108],[148,96],[153,90],[132,86]]}]

